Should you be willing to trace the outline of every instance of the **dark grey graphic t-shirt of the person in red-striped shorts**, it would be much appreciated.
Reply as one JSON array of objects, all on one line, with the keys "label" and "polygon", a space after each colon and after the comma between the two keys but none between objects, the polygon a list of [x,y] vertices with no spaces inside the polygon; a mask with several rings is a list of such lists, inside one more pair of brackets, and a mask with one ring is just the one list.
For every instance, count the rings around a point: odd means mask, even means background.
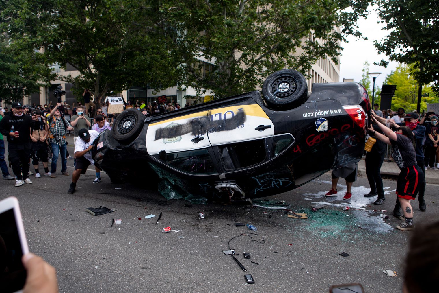
[{"label": "dark grey graphic t-shirt of the person in red-striped shorts", "polygon": [[417,165],[416,153],[409,138],[396,134],[396,141],[390,139],[390,143],[392,144],[392,157],[400,169]]}]

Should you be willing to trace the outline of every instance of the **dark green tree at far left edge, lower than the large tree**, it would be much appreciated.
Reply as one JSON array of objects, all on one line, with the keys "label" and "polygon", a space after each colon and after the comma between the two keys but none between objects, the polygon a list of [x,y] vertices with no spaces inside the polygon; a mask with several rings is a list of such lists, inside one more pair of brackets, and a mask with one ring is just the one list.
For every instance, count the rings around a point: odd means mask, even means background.
[{"label": "dark green tree at far left edge, lower than the large tree", "polygon": [[0,40],[0,99],[11,105],[25,95],[40,92],[53,75],[41,62],[41,54],[20,48],[14,42]]}]

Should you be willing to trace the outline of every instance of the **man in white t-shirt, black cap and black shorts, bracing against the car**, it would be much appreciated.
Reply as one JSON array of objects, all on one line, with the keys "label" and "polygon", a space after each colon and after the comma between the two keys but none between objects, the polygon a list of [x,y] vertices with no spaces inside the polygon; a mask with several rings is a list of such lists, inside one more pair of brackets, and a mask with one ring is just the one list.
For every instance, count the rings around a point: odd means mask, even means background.
[{"label": "man in white t-shirt, black cap and black shorts, bracing against the car", "polygon": [[99,136],[99,133],[95,130],[88,131],[86,128],[79,130],[79,139],[76,140],[74,151],[76,156],[75,171],[73,171],[72,183],[67,191],[68,194],[75,192],[76,182],[81,174],[85,174],[88,166],[94,165],[91,149],[93,148],[93,141],[97,136]]}]

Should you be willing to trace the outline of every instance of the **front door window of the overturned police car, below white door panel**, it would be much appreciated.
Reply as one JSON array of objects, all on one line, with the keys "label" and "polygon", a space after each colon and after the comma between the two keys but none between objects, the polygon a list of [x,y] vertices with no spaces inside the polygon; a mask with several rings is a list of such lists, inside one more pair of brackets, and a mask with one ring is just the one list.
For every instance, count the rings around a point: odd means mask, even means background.
[{"label": "front door window of the overturned police car, below white door panel", "polygon": [[166,154],[166,162],[176,169],[191,174],[217,173],[207,149]]}]

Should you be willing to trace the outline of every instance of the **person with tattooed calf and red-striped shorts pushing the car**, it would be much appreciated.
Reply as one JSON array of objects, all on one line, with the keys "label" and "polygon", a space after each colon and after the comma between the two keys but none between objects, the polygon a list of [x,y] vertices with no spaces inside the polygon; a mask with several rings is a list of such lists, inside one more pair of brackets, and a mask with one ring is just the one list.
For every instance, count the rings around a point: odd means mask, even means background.
[{"label": "person with tattooed calf and red-striped shorts pushing the car", "polygon": [[[374,116],[372,120],[375,123],[378,122]],[[410,199],[416,198],[419,187],[424,181],[424,172],[416,162],[414,135],[407,126],[401,126],[395,132],[381,123],[378,123],[378,127],[384,135],[376,132],[372,126],[369,127],[369,131],[384,143],[392,146],[393,159],[401,170],[396,183],[396,194],[404,213],[403,219],[406,221],[396,225],[396,228],[402,231],[412,230],[414,223]]]}]

